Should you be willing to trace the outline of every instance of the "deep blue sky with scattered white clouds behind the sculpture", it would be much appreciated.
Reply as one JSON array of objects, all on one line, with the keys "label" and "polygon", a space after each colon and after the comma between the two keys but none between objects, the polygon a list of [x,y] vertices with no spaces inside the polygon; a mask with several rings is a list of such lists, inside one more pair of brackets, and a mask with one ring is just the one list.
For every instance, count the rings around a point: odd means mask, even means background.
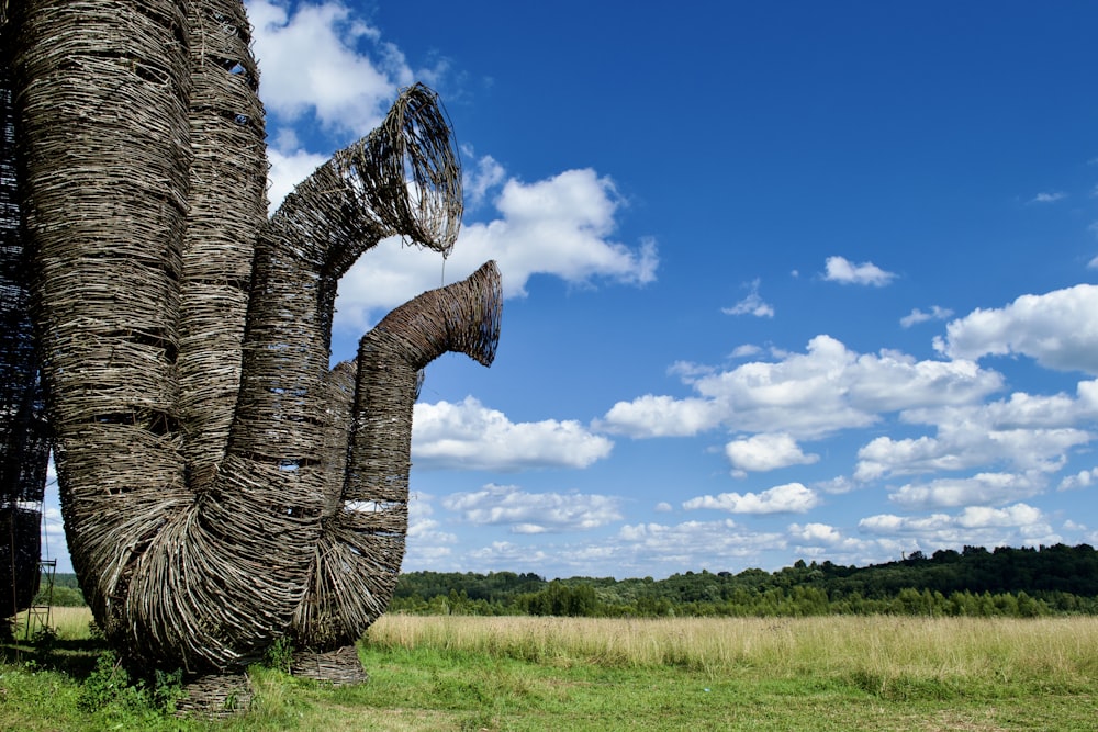
[{"label": "deep blue sky with scattered white clouds behind the sculpture", "polygon": [[427,371],[406,570],[1098,543],[1093,4],[248,9],[272,210],[415,80],[462,149],[452,255],[367,254],[334,358],[503,272],[494,365]]}]

